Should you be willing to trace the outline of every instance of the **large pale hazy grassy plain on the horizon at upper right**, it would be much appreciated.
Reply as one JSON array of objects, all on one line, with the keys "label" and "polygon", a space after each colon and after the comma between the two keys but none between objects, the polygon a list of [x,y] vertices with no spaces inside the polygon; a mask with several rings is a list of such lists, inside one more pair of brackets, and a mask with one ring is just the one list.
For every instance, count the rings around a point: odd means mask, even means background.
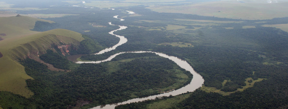
[{"label": "large pale hazy grassy plain on the horizon at upper right", "polygon": [[235,1],[202,2],[190,5],[150,5],[156,12],[184,13],[232,19],[273,19],[288,17],[288,3],[239,3]]}]

